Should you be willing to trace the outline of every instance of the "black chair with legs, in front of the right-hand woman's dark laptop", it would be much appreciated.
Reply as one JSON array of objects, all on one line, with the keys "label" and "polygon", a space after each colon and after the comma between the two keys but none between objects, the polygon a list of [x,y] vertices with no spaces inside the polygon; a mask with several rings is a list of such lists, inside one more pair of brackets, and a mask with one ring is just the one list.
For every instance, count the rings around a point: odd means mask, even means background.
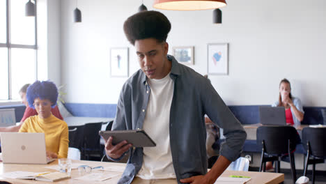
[{"label": "black chair with legs, in front of the right-hand woman's dark laptop", "polygon": [[[293,183],[297,180],[293,152],[300,143],[297,130],[292,126],[260,126],[257,129],[257,145],[261,150],[261,167],[265,171],[266,162],[275,161],[275,172],[280,172],[280,160],[290,162]],[[289,160],[288,160],[289,159]]]}]

